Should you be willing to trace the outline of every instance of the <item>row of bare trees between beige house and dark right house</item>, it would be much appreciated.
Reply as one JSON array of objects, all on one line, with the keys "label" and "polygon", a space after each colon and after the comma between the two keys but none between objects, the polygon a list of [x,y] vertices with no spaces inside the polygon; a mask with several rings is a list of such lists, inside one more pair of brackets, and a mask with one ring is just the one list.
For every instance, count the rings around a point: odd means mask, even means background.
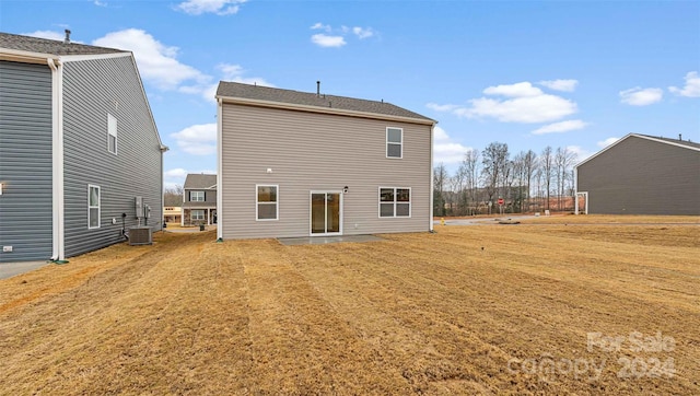
[{"label": "row of bare trees between beige house and dark right house", "polygon": [[453,174],[443,163],[433,168],[433,214],[573,210],[576,160],[565,147],[548,145],[539,154],[527,150],[514,155],[506,143],[500,142],[490,143],[481,152],[469,150]]}]

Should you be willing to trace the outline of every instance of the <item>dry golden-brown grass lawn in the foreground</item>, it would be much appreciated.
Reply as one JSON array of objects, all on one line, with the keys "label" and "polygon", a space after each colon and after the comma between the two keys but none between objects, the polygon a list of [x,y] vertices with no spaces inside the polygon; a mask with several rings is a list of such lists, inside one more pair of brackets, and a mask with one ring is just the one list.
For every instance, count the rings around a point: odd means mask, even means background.
[{"label": "dry golden-brown grass lawn in the foreground", "polygon": [[591,219],[94,252],[0,280],[0,394],[699,394],[698,219]]}]

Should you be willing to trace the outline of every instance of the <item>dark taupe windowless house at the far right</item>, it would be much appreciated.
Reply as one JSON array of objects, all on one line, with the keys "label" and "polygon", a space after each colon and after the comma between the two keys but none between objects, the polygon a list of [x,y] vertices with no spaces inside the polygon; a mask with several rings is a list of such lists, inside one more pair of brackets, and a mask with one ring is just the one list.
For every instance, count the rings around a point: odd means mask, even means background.
[{"label": "dark taupe windowless house at the far right", "polygon": [[700,144],[630,133],[575,167],[588,213],[700,214]]}]

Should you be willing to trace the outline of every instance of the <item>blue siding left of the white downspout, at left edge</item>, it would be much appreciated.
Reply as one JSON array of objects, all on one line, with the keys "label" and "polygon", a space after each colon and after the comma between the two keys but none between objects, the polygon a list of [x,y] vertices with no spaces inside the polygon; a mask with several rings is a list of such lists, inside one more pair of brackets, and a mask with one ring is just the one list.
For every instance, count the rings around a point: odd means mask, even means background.
[{"label": "blue siding left of the white downspout, at left edge", "polygon": [[48,66],[0,61],[0,263],[51,257],[51,126]]}]

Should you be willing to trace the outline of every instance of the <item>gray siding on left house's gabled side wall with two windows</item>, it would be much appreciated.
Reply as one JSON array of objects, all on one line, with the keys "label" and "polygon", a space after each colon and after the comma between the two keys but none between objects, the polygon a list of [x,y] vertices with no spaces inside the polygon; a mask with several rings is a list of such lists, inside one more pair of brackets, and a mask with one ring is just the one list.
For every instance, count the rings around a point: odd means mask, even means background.
[{"label": "gray siding on left house's gabled side wall with two windows", "polygon": [[[135,197],[151,207],[148,225],[161,230],[162,154],[130,57],[65,63],[66,256],[121,238],[137,225]],[[107,150],[107,114],[117,118],[117,155]],[[88,228],[88,186],[101,188],[101,226]],[[116,219],[116,224],[112,224]]]}]

